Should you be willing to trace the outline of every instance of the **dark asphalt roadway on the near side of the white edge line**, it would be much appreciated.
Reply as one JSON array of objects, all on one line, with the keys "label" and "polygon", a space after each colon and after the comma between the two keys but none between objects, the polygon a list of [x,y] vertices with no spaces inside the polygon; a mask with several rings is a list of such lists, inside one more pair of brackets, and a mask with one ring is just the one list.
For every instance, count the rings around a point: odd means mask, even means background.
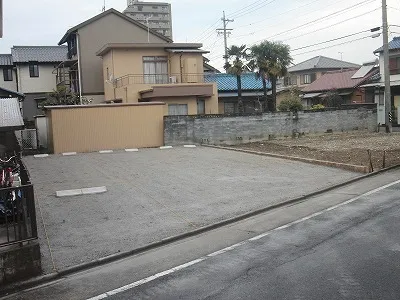
[{"label": "dark asphalt roadway on the near side of the white edge line", "polygon": [[398,184],[107,299],[399,299],[399,192]]}]

